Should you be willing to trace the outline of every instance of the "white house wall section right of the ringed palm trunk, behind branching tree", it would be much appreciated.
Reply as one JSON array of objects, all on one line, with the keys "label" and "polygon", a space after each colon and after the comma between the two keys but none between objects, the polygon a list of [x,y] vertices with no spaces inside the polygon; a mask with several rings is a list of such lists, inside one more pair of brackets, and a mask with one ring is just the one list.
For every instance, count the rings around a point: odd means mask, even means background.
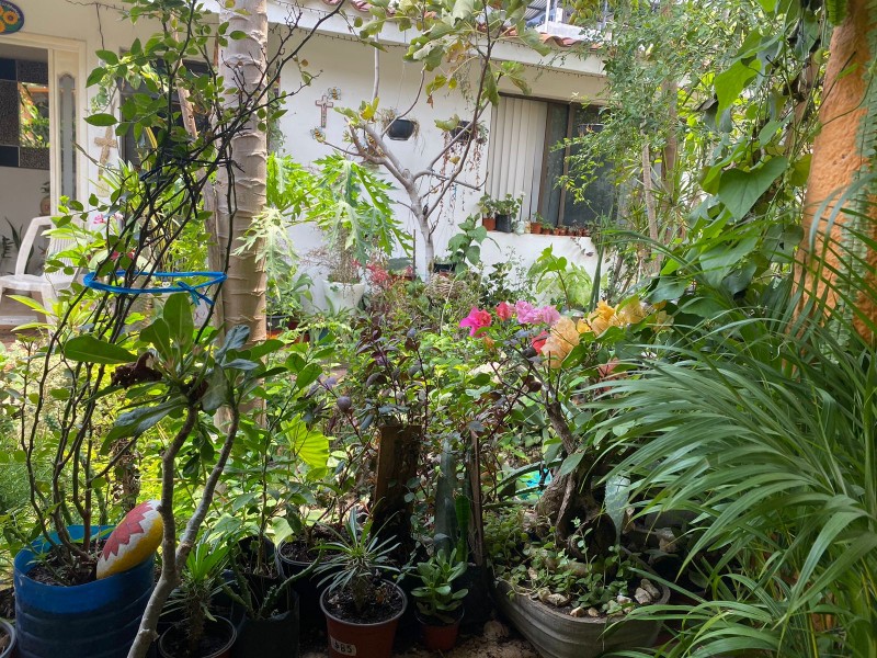
[{"label": "white house wall section right of the ringed palm trunk, behind branching tree", "polygon": [[[386,52],[379,54],[380,88],[379,98],[381,109],[407,110],[414,101],[420,88],[420,68],[402,60],[403,45],[385,46]],[[333,152],[332,146],[349,147],[343,141],[345,126],[344,116],[335,112],[339,106],[358,107],[363,100],[371,99],[374,84],[374,48],[356,42],[351,36],[317,35],[306,46],[303,58],[308,63],[308,70],[318,75],[310,87],[298,91],[287,102],[287,113],[281,118],[281,128],[284,134],[283,152],[291,154],[300,162],[312,162],[320,157]],[[534,98],[547,100],[595,101],[602,89],[603,79],[588,72],[560,71],[549,68],[528,67],[526,77],[532,86]],[[282,87],[284,91],[298,90],[300,78],[293,68],[287,68],[283,75]],[[311,132],[320,127],[320,107],[316,104],[327,94],[329,89],[338,89],[340,98],[332,101],[334,107],[327,116],[326,143],[316,139]],[[516,89],[502,86],[502,91],[511,92]],[[519,91],[520,93],[520,91]],[[420,126],[417,137],[409,141],[390,141],[392,152],[410,170],[421,170],[429,161],[441,152],[444,146],[445,133],[435,126],[436,120],[447,120],[454,114],[465,118],[471,112],[458,92],[441,92],[434,94],[433,105],[430,106],[423,99],[408,115]],[[491,123],[491,114],[483,117],[486,124]],[[488,139],[499,136],[489,135]],[[476,202],[486,189],[488,171],[489,144],[480,146],[476,158],[460,175],[459,180],[478,186],[478,191],[457,185],[443,202],[438,228],[435,234],[435,252],[442,256],[446,251],[447,240],[456,232],[456,227],[470,213],[475,213]],[[441,171],[441,163],[437,167]],[[449,167],[448,167],[449,168]],[[387,180],[392,182],[389,177]],[[512,193],[517,190],[509,190]],[[397,190],[394,196],[407,202],[407,195]],[[425,272],[422,261],[423,241],[414,219],[405,206],[396,206],[399,218],[417,239],[415,252],[418,256],[418,270]],[[320,234],[310,227],[297,227],[293,230],[296,246],[300,253],[307,253],[321,245]],[[593,272],[596,262],[593,247],[589,239],[569,237],[522,236],[491,232],[491,240],[483,247],[483,260],[487,264],[515,260],[524,268],[532,264],[539,253],[548,246],[554,245],[556,253],[567,257],[578,264],[584,265]],[[319,281],[321,273],[312,271],[314,279]],[[322,304],[321,284],[317,284],[315,302]]]}]

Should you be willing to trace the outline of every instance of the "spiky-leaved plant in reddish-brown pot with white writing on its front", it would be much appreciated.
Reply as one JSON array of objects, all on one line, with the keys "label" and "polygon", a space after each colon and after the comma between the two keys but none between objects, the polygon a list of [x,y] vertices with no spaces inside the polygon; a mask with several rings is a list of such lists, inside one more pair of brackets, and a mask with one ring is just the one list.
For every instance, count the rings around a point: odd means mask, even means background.
[{"label": "spiky-leaved plant in reddish-brown pot with white writing on its front", "polygon": [[399,617],[408,598],[381,575],[398,571],[390,563],[396,548],[373,533],[372,519],[360,523],[356,508],[348,515],[345,534],[322,545],[329,558],[319,567],[328,572],[320,597],[326,615],[330,658],[367,655],[389,658]]}]

